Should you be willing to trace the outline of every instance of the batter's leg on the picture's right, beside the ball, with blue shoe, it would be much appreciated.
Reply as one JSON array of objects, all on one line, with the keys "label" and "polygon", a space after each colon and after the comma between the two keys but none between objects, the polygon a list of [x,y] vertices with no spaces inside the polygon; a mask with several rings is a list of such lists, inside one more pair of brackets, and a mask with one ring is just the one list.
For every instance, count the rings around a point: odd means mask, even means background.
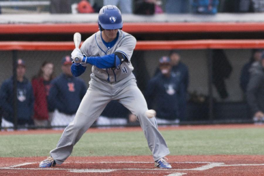
[{"label": "batter's leg on the picture's right, beside the ball, with blue shoe", "polygon": [[[148,141],[148,146],[152,151],[153,159],[157,162],[159,161],[161,165],[166,164],[167,162],[163,160],[163,158],[170,153],[167,144],[158,131],[155,119],[149,119],[145,115],[145,112],[148,109],[147,103],[136,83],[131,85],[131,82],[129,82],[128,84],[130,85],[122,89],[115,99],[118,99],[121,104],[128,108],[139,119],[141,128]],[[160,167],[161,165],[157,164],[156,166]],[[167,167],[163,168],[171,168],[171,166],[168,164]]]}]

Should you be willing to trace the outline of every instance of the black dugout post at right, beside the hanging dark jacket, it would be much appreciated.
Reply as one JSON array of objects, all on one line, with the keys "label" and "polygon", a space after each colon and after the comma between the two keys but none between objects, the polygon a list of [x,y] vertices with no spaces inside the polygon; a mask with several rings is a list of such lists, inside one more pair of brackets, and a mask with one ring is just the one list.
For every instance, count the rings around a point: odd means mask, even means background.
[{"label": "black dugout post at right, beside the hanging dark jacket", "polygon": [[209,100],[209,121],[214,120],[214,101],[213,101],[213,58],[212,58],[212,50],[207,49],[208,57],[208,100]]}]

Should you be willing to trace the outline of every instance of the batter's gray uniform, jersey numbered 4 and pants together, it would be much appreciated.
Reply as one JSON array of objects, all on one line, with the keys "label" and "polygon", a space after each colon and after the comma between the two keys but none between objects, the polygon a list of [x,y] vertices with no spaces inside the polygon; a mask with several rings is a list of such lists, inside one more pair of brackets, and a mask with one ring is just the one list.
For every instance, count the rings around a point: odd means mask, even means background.
[{"label": "batter's gray uniform, jersey numbered 4 and pants together", "polygon": [[155,118],[149,119],[145,115],[148,109],[147,103],[137,87],[135,76],[132,74],[133,66],[130,62],[135,45],[136,39],[121,30],[119,30],[116,43],[111,48],[107,48],[103,43],[101,31],[87,38],[82,44],[81,51],[86,56],[104,56],[118,51],[125,55],[127,60],[117,69],[92,67],[89,88],[82,99],[74,121],[65,128],[57,147],[50,151],[51,157],[57,164],[62,164],[70,156],[75,143],[100,116],[111,100],[118,100],[137,116],[154,160],[170,153],[164,138],[158,131]]}]

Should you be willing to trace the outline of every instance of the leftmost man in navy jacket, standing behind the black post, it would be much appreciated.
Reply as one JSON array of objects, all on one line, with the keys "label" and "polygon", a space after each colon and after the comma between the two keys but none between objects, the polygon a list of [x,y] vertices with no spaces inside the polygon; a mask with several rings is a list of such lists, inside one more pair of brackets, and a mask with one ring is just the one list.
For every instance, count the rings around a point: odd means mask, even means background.
[{"label": "leftmost man in navy jacket, standing behind the black post", "polygon": [[[17,60],[17,124],[27,127],[33,125],[33,105],[34,95],[31,83],[25,77],[26,65],[22,59]],[[13,76],[5,80],[0,91],[1,108],[3,110],[3,119],[1,127],[13,127],[14,109],[13,109]]]}]

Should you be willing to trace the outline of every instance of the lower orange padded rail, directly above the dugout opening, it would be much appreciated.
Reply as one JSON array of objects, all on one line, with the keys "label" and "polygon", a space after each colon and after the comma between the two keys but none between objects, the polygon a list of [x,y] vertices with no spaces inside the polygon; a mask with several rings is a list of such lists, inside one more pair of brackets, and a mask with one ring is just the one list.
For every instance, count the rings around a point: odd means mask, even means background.
[{"label": "lower orange padded rail, directly above the dugout opening", "polygon": [[[72,42],[0,42],[0,50],[73,50]],[[138,41],[135,50],[264,48],[264,40]]]}]

